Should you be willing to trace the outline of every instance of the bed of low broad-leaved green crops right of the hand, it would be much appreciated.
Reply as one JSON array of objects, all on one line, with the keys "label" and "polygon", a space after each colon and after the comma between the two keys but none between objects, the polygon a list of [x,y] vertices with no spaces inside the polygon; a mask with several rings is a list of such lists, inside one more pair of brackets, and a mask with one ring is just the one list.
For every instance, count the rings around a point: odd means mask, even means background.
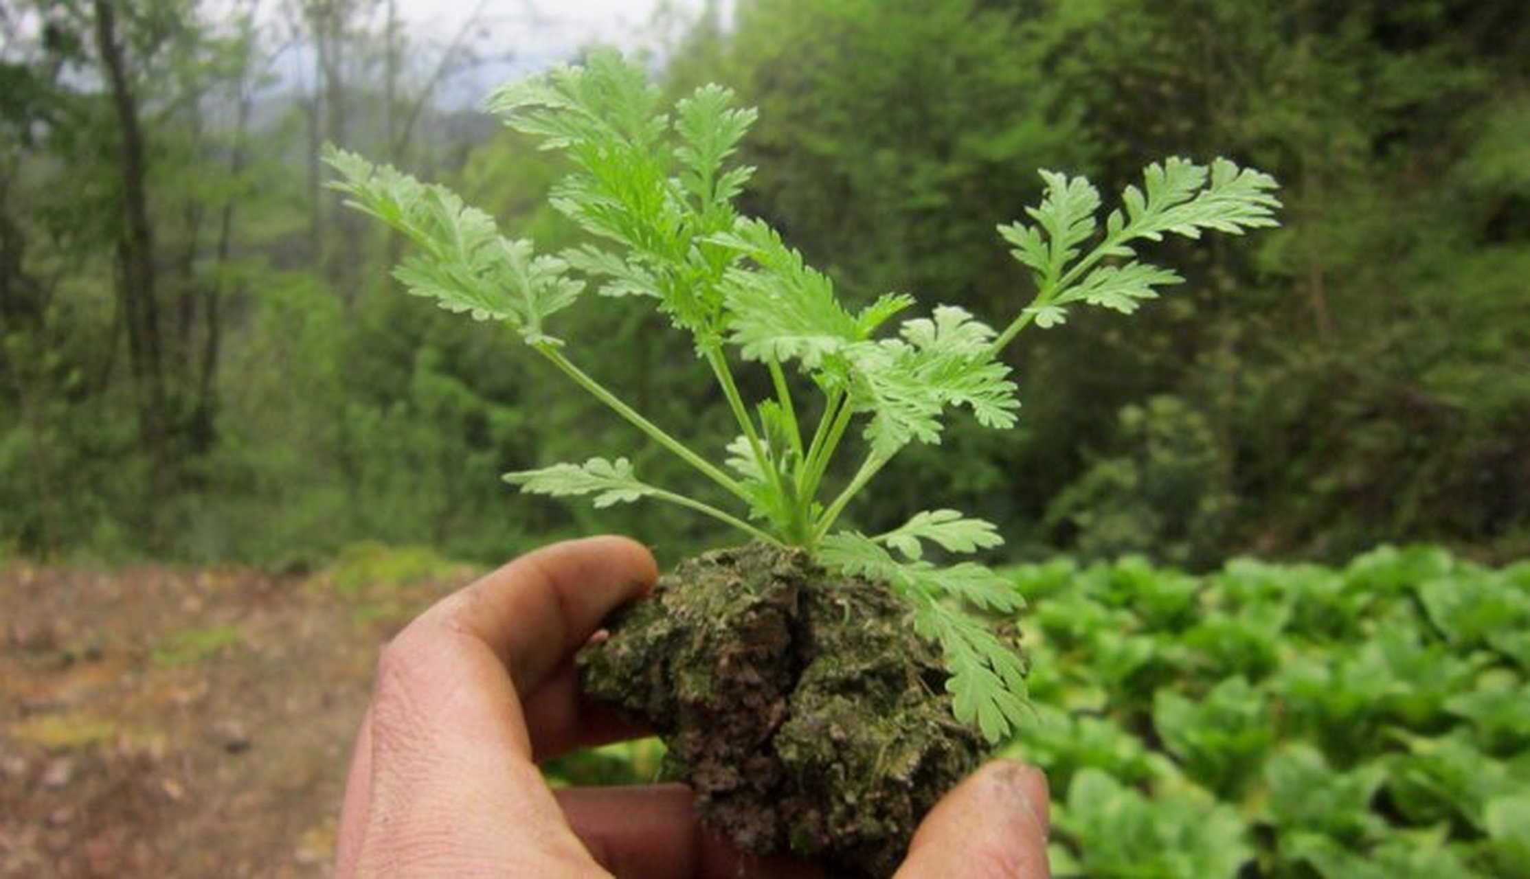
[{"label": "bed of low broad-leaved green crops right of the hand", "polygon": [[1011,573],[1039,706],[1007,752],[1051,777],[1060,874],[1525,874],[1530,679],[1490,647],[1530,624],[1524,564]]}]

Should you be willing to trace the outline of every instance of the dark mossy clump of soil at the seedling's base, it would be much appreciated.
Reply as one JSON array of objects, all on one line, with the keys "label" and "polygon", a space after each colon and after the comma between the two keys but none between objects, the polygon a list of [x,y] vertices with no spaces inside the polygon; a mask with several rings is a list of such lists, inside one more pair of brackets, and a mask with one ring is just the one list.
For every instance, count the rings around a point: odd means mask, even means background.
[{"label": "dark mossy clump of soil at the seedling's base", "polygon": [[907,605],[802,550],[682,563],[607,628],[580,654],[586,692],[646,718],[702,822],[745,851],[890,876],[984,751]]}]

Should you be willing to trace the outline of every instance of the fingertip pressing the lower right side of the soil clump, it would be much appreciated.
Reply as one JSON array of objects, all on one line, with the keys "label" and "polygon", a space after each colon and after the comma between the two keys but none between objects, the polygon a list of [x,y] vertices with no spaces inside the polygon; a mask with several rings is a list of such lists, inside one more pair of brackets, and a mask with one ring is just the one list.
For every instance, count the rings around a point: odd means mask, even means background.
[{"label": "fingertip pressing the lower right side of the soil clump", "polygon": [[993,760],[935,804],[897,879],[1048,879],[1048,821],[1047,777]]}]

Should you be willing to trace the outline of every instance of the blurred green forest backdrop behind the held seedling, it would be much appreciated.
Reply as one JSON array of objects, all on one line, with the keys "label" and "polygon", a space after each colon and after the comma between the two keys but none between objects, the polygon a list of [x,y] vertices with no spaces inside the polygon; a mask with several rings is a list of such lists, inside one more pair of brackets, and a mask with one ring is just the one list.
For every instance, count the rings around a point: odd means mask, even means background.
[{"label": "blurred green forest backdrop behind the held seedling", "polygon": [[[851,300],[1011,313],[1028,290],[994,226],[1037,168],[1111,191],[1221,154],[1284,183],[1282,229],[1166,245],[1189,284],[1137,318],[1030,335],[1022,428],[910,451],[861,526],[953,506],[1016,556],[1193,569],[1411,540],[1530,555],[1521,0],[739,0],[685,21],[655,69],[760,109],[745,211]],[[496,561],[621,530],[673,561],[733,540],[505,486],[592,454],[692,477],[511,333],[405,297],[402,245],[324,188],[329,141],[572,243],[555,159],[441,99],[483,63],[387,0],[0,0],[0,556],[294,566],[378,540]],[[589,303],[563,335],[591,371],[721,449],[684,339]]]}]

